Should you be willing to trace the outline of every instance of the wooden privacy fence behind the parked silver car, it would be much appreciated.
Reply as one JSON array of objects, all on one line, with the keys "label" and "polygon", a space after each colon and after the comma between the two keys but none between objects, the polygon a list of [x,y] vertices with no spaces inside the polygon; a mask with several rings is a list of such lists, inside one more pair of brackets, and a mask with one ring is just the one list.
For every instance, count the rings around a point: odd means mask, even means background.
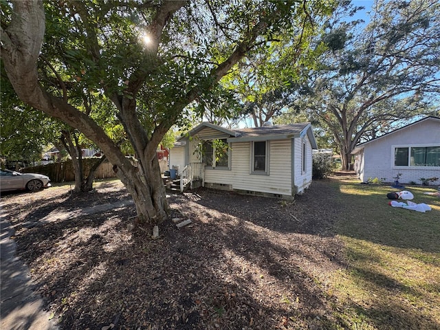
[{"label": "wooden privacy fence behind the parked silver car", "polygon": [[[83,159],[84,174],[87,175],[93,164],[99,161],[99,158],[85,158]],[[106,179],[108,177],[116,177],[113,172],[113,166],[108,160],[104,160],[102,164],[95,171],[96,179]],[[56,162],[47,165],[33,166],[23,168],[22,173],[39,173],[47,175],[52,182],[67,182],[75,181],[74,168],[72,166],[72,160],[65,162]]]}]

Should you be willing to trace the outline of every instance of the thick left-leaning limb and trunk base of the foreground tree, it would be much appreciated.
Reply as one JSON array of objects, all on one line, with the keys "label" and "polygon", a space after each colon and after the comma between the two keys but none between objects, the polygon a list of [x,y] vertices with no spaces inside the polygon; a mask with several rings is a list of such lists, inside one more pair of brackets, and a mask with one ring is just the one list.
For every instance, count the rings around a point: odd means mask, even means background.
[{"label": "thick left-leaning limb and trunk base of the foreground tree", "polygon": [[[168,206],[163,185],[159,185],[160,172],[157,159],[144,157],[143,161],[148,179],[133,166],[124,153],[111,140],[104,130],[85,113],[78,111],[65,100],[43,89],[39,83],[36,63],[43,43],[45,32],[45,12],[41,1],[17,1],[14,3],[14,15],[7,30],[1,30],[1,58],[5,71],[21,100],[32,107],[44,111],[83,132],[101,148],[117,171],[118,177],[131,193],[139,217],[157,223],[166,218]],[[160,139],[159,139],[160,140]]]}]

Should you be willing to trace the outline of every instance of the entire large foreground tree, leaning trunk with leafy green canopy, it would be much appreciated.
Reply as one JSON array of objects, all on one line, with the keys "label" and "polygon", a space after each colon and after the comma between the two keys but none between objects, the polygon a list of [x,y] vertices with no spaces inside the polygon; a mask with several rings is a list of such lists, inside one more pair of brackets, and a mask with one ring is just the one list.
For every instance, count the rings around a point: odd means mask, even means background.
[{"label": "entire large foreground tree, leaning trunk with leafy green canopy", "polygon": [[[188,104],[211,100],[245,56],[332,8],[325,0],[1,2],[1,59],[19,98],[94,141],[140,219],[157,222],[168,206],[155,150],[184,124]],[[94,107],[92,94],[112,106]],[[96,115],[122,125],[136,165]]]}]

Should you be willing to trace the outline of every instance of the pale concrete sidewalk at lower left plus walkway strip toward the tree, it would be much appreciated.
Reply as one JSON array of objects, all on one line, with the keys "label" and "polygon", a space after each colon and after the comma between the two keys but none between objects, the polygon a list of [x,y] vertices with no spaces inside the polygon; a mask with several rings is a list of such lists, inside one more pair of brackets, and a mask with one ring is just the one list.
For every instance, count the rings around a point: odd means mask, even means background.
[{"label": "pale concrete sidewalk at lower left plus walkway strip toward the tree", "polygon": [[[125,208],[132,204],[133,200],[124,200],[72,212],[54,211],[43,219],[21,223],[21,225],[32,228],[53,221],[74,219],[110,209],[118,210],[118,208]],[[29,276],[28,267],[16,255],[17,245],[13,239],[10,239],[15,230],[8,219],[8,212],[0,210],[0,329],[58,329],[51,313],[44,310],[43,299],[34,292],[35,285]]]}]

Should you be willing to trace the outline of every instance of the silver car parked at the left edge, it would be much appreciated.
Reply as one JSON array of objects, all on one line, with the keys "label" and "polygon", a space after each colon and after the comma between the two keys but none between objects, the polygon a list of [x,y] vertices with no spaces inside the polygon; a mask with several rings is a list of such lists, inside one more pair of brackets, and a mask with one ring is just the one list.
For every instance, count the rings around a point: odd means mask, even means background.
[{"label": "silver car parked at the left edge", "polygon": [[37,191],[50,187],[46,175],[35,173],[18,173],[13,170],[0,170],[0,191],[30,190]]}]

